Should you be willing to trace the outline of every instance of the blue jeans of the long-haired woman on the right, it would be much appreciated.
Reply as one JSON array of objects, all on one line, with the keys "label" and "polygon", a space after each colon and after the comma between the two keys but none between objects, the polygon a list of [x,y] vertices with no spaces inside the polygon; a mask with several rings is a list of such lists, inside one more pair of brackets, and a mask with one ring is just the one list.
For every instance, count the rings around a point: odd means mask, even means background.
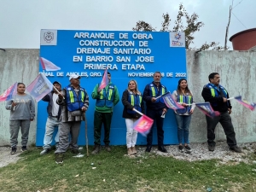
[{"label": "blue jeans of the long-haired woman on the right", "polygon": [[178,143],[189,143],[189,125],[191,121],[191,115],[179,115],[175,113],[177,122],[177,140]]}]

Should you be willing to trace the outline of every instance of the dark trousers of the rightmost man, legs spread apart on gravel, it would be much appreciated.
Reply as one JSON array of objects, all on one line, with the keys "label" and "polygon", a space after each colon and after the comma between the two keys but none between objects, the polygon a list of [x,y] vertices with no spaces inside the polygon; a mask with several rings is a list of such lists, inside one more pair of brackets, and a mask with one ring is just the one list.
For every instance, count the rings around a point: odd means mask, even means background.
[{"label": "dark trousers of the rightmost man, legs spread apart on gravel", "polygon": [[230,147],[236,145],[236,133],[234,131],[234,127],[232,125],[231,117],[228,112],[220,113],[220,116],[210,118],[207,117],[207,138],[208,138],[208,144],[215,146],[215,127],[218,124],[218,122],[222,125],[224,129],[224,133],[227,137],[227,143]]}]

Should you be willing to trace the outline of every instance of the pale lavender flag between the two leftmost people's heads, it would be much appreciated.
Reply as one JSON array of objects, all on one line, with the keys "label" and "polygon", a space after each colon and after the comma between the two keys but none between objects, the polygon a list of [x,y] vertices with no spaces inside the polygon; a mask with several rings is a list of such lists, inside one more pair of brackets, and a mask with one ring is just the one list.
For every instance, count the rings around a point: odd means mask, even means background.
[{"label": "pale lavender flag between the two leftmost people's heads", "polygon": [[26,91],[38,102],[47,95],[52,88],[53,84],[45,77],[44,73],[39,73],[38,77],[26,87]]}]

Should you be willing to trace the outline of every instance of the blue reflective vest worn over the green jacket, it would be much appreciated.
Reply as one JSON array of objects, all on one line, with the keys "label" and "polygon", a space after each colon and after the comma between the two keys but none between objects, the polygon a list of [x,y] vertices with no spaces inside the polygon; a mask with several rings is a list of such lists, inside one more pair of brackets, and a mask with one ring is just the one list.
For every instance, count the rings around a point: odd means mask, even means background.
[{"label": "blue reflective vest worn over the green jacket", "polygon": [[96,100],[97,107],[107,106],[108,108],[113,108],[113,97],[114,97],[114,84],[108,85],[108,90],[105,88],[101,90],[100,98]]}]

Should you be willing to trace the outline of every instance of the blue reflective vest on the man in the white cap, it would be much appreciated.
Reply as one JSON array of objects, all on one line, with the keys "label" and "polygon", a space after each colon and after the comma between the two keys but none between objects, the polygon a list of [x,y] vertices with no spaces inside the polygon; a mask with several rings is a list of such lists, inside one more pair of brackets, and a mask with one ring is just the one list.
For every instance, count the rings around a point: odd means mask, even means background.
[{"label": "blue reflective vest on the man in the white cap", "polygon": [[80,87],[78,95],[76,91],[73,90],[72,86],[67,86],[65,90],[67,91],[67,94],[66,94],[67,110],[76,111],[83,108],[84,97],[86,94],[84,88]]}]

